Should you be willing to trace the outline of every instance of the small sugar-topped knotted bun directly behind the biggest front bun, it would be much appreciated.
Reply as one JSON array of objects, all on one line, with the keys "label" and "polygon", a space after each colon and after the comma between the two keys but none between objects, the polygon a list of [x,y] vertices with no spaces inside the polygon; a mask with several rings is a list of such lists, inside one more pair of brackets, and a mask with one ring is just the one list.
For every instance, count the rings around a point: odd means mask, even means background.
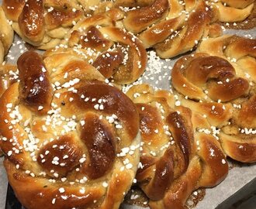
[{"label": "small sugar-topped knotted bun directly behind the biggest front bun", "polygon": [[[119,16],[119,15],[117,15]],[[88,60],[99,72],[117,84],[130,84],[136,81],[147,65],[147,52],[136,36],[114,27],[108,14],[93,15],[82,19],[70,33],[67,43],[53,53],[77,54]]]}]

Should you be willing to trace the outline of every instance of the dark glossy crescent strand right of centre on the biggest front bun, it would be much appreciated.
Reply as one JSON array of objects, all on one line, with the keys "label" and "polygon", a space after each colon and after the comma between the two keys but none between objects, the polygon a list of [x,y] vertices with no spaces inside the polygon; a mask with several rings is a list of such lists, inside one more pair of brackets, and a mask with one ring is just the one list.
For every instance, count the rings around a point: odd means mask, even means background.
[{"label": "dark glossy crescent strand right of centre on the biggest front bun", "polygon": [[98,115],[85,115],[85,125],[81,127],[81,140],[88,149],[89,162],[84,172],[90,179],[98,179],[112,169],[116,157],[116,140],[110,125],[102,122]]}]

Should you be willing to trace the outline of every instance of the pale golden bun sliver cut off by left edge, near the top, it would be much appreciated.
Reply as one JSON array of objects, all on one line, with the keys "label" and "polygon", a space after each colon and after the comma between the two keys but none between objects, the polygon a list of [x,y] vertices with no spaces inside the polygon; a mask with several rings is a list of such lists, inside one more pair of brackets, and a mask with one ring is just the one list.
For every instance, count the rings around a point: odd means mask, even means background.
[{"label": "pale golden bun sliver cut off by left edge, near the top", "polygon": [[0,7],[0,63],[4,61],[5,55],[8,53],[10,46],[12,46],[13,30],[5,17],[5,12]]}]

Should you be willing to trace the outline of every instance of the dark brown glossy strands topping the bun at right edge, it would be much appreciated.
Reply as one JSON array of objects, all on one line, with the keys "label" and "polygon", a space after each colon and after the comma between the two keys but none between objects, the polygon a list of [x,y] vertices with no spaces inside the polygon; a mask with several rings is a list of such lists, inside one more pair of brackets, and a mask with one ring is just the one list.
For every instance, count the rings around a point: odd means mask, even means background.
[{"label": "dark brown glossy strands topping the bun at right edge", "polygon": [[246,80],[235,77],[234,67],[220,57],[199,57],[192,60],[185,69],[185,74],[187,79],[198,87],[204,87],[211,80],[218,81],[219,84],[212,83],[207,86],[209,97],[214,101],[240,98],[249,88]]}]

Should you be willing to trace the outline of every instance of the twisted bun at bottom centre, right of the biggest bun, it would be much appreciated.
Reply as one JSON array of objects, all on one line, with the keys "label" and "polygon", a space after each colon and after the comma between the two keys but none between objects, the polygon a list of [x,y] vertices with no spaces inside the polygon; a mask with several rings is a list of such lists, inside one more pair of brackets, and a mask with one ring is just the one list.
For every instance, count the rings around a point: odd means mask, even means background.
[{"label": "twisted bun at bottom centre, right of the biggest bun", "polygon": [[189,108],[175,108],[172,94],[154,92],[147,84],[133,86],[127,94],[140,114],[137,181],[151,208],[184,208],[193,190],[225,178],[228,166],[220,144],[212,135],[196,132],[209,128],[206,119]]}]

